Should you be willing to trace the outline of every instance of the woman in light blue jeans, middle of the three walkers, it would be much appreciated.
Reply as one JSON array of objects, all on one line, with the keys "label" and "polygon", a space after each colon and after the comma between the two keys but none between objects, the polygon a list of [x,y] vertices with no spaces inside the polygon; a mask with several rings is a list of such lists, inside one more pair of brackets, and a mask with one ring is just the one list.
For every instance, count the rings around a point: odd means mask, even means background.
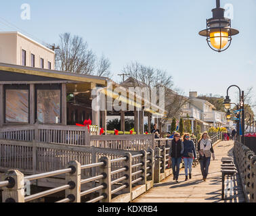
[{"label": "woman in light blue jeans, middle of the three walkers", "polygon": [[183,144],[184,144],[184,153],[183,153],[183,160],[185,166],[185,181],[188,181],[188,171],[189,171],[189,178],[192,178],[192,165],[193,159],[196,159],[196,150],[194,148],[194,142],[190,140],[190,134],[184,134],[183,136]]}]

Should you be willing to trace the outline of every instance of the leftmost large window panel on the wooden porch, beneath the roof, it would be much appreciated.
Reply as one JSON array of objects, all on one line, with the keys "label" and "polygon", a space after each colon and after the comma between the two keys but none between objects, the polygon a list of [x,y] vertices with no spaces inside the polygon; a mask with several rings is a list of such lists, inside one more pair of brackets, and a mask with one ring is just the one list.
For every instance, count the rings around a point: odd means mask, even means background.
[{"label": "leftmost large window panel on the wooden porch, beneath the roof", "polygon": [[5,122],[28,123],[28,90],[5,90]]}]

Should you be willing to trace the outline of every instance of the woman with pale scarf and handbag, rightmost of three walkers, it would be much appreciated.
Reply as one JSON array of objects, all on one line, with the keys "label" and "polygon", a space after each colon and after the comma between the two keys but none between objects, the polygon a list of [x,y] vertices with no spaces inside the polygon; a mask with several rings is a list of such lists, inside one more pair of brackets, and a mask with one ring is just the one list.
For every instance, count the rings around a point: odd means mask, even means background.
[{"label": "woman with pale scarf and handbag, rightmost of three walkers", "polygon": [[215,160],[215,155],[213,151],[213,145],[209,139],[207,132],[204,132],[198,142],[198,152],[200,154],[200,167],[202,172],[202,180],[207,180],[207,175],[209,171],[209,166],[211,163],[211,155],[213,155],[213,161]]}]

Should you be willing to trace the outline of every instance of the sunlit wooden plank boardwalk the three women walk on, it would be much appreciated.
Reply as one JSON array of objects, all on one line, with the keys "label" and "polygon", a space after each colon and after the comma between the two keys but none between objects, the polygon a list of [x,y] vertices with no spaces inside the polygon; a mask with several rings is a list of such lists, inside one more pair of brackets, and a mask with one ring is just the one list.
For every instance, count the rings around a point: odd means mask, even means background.
[{"label": "sunlit wooden plank boardwalk the three women walk on", "polygon": [[175,183],[171,175],[133,202],[245,202],[238,174],[226,179],[226,200],[221,200],[221,158],[230,156],[233,146],[233,141],[214,146],[216,159],[211,161],[207,182],[202,181],[198,164],[192,170],[192,180],[184,182],[184,169],[181,169],[179,183]]}]

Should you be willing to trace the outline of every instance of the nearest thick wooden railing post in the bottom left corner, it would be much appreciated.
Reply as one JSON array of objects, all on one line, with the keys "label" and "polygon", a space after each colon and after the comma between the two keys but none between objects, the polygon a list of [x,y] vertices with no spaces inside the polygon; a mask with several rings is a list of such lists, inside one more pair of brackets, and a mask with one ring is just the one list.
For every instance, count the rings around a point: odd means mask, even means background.
[{"label": "nearest thick wooden railing post in the bottom left corner", "polygon": [[3,187],[3,202],[24,202],[24,175],[18,170],[9,170],[5,174],[9,185]]}]

